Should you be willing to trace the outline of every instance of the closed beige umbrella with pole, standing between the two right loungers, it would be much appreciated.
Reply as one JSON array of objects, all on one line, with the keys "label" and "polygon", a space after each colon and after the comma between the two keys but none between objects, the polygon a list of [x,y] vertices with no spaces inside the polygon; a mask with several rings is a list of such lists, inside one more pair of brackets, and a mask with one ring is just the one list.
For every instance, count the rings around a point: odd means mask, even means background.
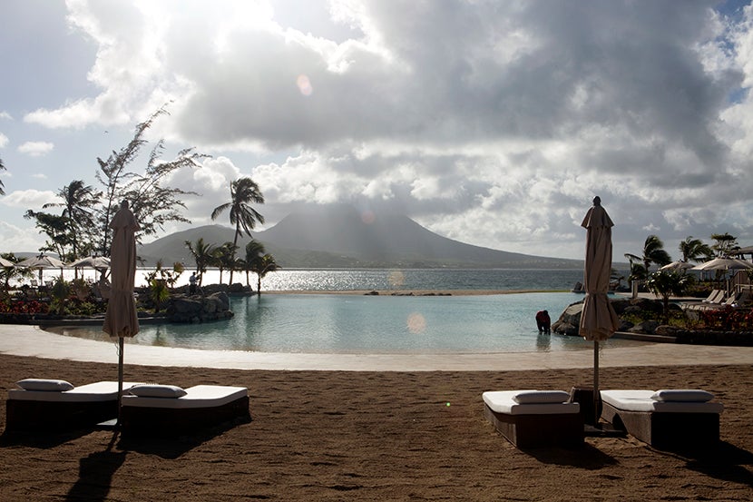
[{"label": "closed beige umbrella with pole, standing between the two right loungers", "polygon": [[601,199],[593,198],[593,207],[581,224],[586,229],[586,260],[583,283],[586,297],[583,300],[580,334],[593,341],[593,424],[599,423],[599,342],[607,340],[619,326],[619,320],[607,292],[611,275],[611,222],[609,214],[601,207]]}]

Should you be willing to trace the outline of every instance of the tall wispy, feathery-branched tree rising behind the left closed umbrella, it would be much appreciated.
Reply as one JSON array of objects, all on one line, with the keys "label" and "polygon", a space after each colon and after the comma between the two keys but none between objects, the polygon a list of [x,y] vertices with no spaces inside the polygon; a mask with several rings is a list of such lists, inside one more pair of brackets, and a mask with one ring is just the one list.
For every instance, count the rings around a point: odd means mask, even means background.
[{"label": "tall wispy, feathery-branched tree rising behind the left closed umbrella", "polygon": [[181,150],[171,161],[163,161],[164,142],[160,140],[149,155],[146,170],[143,173],[130,172],[128,166],[141,153],[142,147],[148,143],[144,138],[152,123],[167,110],[162,107],[145,122],[136,126],[131,142],[120,152],[112,152],[107,160],[97,158],[100,170],[96,172],[97,181],[104,187],[103,202],[99,212],[99,243],[98,248],[108,254],[110,251],[109,224],[112,216],[117,212],[122,200],[128,200],[141,230],[136,238],[152,235],[163,228],[169,221],[191,222],[181,213],[185,204],[181,201],[184,195],[196,195],[177,188],[162,185],[170,175],[183,167],[198,167],[199,161],[206,155],[196,153],[192,148]]}]

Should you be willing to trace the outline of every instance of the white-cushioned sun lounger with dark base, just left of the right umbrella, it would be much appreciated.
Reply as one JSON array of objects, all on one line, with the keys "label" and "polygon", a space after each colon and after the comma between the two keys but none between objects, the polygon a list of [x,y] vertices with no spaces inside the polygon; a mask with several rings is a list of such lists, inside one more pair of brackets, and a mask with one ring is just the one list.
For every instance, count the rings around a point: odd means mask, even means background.
[{"label": "white-cushioned sun lounger with dark base, just left of the right umbrella", "polygon": [[517,448],[577,447],[583,444],[578,403],[563,390],[484,392],[484,415]]}]

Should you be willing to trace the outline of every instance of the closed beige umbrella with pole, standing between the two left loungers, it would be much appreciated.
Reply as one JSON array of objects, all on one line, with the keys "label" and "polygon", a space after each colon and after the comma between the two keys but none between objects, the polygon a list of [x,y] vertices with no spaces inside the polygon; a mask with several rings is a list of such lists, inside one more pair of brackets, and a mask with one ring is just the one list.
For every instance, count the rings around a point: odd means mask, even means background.
[{"label": "closed beige umbrella with pole, standing between the two left loungers", "polygon": [[111,337],[118,337],[118,425],[122,400],[122,357],[123,338],[135,336],[139,332],[139,318],[136,315],[136,301],[133,299],[133,286],[136,278],[136,236],[139,224],[123,201],[121,208],[110,222],[112,228],[112,249],[110,269],[112,291],[104,314],[103,331]]}]

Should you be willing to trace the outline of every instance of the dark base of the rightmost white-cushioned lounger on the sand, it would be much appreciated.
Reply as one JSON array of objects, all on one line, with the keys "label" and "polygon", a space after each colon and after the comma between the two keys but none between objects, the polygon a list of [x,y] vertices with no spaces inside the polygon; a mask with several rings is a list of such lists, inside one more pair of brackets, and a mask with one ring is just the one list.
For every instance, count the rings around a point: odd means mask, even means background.
[{"label": "dark base of the rightmost white-cushioned lounger on the sand", "polygon": [[654,448],[708,447],[719,442],[719,413],[626,411],[604,402],[601,418]]}]

